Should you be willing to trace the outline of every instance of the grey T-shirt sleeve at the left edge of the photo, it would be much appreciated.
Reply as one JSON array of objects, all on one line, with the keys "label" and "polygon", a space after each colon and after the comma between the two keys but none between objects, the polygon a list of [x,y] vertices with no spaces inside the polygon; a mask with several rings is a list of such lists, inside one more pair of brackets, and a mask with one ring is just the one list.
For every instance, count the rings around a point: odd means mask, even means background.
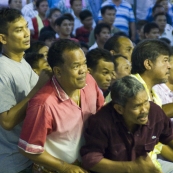
[{"label": "grey T-shirt sleeve at the left edge of the photo", "polygon": [[0,75],[0,113],[10,110],[17,104],[14,82],[6,75]]}]

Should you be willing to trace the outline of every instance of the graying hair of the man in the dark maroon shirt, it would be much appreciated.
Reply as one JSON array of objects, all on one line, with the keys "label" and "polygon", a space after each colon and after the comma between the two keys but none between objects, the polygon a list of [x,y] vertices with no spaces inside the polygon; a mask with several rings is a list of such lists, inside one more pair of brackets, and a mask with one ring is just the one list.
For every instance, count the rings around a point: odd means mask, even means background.
[{"label": "graying hair of the man in the dark maroon shirt", "polygon": [[114,82],[111,87],[111,98],[114,104],[125,106],[128,99],[145,90],[143,84],[132,76],[125,76]]}]

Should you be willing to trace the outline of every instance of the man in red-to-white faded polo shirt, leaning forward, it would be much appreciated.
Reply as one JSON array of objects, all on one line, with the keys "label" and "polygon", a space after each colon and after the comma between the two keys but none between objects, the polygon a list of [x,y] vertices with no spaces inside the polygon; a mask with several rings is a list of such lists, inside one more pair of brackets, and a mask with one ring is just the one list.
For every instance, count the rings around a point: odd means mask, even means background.
[{"label": "man in red-to-white faded polo shirt, leaning forward", "polygon": [[53,43],[48,63],[54,76],[29,102],[20,151],[36,163],[38,172],[86,173],[75,166],[80,162],[83,129],[104,98],[87,73],[85,55],[74,41],[59,39]]}]

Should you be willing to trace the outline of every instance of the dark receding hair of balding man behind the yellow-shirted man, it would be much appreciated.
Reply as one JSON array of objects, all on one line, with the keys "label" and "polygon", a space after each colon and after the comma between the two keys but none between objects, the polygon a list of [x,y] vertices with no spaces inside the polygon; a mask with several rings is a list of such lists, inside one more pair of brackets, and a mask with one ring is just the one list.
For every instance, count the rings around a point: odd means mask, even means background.
[{"label": "dark receding hair of balding man behind the yellow-shirted man", "polygon": [[115,36],[110,37],[106,41],[106,43],[104,45],[104,49],[109,50],[109,51],[114,50],[116,53],[119,53],[119,49],[121,47],[119,39],[122,37],[124,37],[124,36],[115,35]]}]

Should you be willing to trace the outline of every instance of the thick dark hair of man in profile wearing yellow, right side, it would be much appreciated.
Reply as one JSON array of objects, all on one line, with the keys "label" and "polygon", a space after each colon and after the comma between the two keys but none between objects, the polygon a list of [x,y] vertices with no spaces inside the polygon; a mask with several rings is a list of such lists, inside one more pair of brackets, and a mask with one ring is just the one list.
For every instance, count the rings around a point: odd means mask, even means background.
[{"label": "thick dark hair of man in profile wearing yellow, right side", "polygon": [[160,55],[170,56],[170,47],[159,39],[146,39],[137,44],[132,53],[132,74],[143,74],[146,69],[144,61],[155,62]]}]

